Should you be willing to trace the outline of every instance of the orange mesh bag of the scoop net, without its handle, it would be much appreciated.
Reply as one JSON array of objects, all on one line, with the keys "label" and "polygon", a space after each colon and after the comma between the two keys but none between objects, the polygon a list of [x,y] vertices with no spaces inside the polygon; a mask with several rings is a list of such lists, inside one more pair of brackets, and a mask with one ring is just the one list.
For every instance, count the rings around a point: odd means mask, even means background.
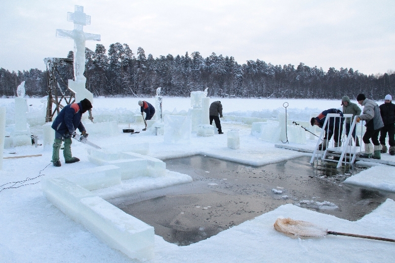
[{"label": "orange mesh bag of the scoop net, without its handle", "polygon": [[275,229],[289,237],[322,237],[327,234],[327,230],[314,225],[313,223],[293,220],[290,218],[277,218]]}]

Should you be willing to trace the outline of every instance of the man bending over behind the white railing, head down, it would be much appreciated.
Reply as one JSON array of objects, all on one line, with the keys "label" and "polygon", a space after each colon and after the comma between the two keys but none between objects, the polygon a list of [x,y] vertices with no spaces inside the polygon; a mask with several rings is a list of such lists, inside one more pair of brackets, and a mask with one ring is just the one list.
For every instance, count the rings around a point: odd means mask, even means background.
[{"label": "man bending over behind the white railing, head down", "polygon": [[326,147],[328,146],[328,141],[330,141],[333,134],[335,135],[335,137],[333,138],[333,140],[335,141],[335,147],[342,146],[342,142],[340,140],[343,132],[344,121],[342,111],[338,109],[329,109],[323,111],[322,113],[319,113],[319,115],[315,118],[313,117],[310,120],[310,124],[312,126],[317,125],[318,127],[322,128],[326,119],[326,115],[328,113],[340,114],[341,118],[329,117],[328,121],[326,122],[325,128],[323,128],[325,130],[325,137],[322,143],[319,145],[318,150],[326,149]]}]

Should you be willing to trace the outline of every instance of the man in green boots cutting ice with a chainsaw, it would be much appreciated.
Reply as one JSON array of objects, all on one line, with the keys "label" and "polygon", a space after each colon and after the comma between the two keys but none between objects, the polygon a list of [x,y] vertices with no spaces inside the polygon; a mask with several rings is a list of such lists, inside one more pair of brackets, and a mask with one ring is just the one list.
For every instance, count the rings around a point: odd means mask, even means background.
[{"label": "man in green boots cutting ice with a chainsaw", "polygon": [[55,130],[55,142],[53,143],[52,163],[54,166],[61,166],[59,160],[59,150],[64,140],[63,156],[66,163],[78,162],[79,158],[73,157],[71,153],[71,137],[76,136],[76,129],[79,129],[81,135],[86,134],[85,127],[81,122],[82,113],[92,109],[92,104],[88,99],[83,99],[79,103],[66,105],[56,116],[52,123],[52,129]]}]

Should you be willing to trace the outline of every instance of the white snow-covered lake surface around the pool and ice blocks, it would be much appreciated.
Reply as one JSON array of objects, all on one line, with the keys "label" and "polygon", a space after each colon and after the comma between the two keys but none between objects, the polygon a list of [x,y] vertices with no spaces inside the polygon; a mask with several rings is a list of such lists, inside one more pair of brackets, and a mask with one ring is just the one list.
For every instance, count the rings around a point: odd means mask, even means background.
[{"label": "white snow-covered lake surface around the pool and ice blocks", "polygon": [[[137,101],[141,98],[95,98],[93,116],[100,117],[100,112],[139,113]],[[28,98],[32,110],[41,110],[41,99]],[[146,98],[154,103],[154,98]],[[210,101],[218,99],[210,98]],[[223,99],[224,115],[267,118],[275,120],[279,112],[284,111],[285,100],[265,99]],[[318,100],[286,100],[289,103],[287,113],[291,119],[308,121],[311,113],[321,112],[329,108],[338,108],[339,101]],[[185,111],[191,108],[190,98],[163,97],[163,112]],[[248,105],[248,109],[245,108]],[[137,107],[136,107],[137,106]],[[306,108],[306,106],[308,108]],[[12,124],[13,99],[0,99],[0,107],[7,109],[7,124]],[[30,109],[29,109],[30,110]],[[232,114],[230,114],[232,113]],[[111,115],[110,114],[110,115]],[[113,114],[116,115],[116,114]],[[127,114],[121,116],[126,117]],[[141,116],[141,115],[140,115]],[[96,119],[95,119],[96,120]],[[112,120],[112,119],[111,119]],[[237,161],[247,165],[263,165],[282,160],[309,155],[308,153],[275,148],[268,141],[251,136],[251,124],[232,121],[221,121],[223,131],[239,130],[240,148],[227,147],[227,137],[214,135],[200,137],[195,133],[190,136],[189,143],[165,143],[163,136],[145,133],[142,121],[133,122],[130,116],[130,128],[140,131],[139,134],[123,134],[121,129],[127,128],[129,120],[118,123],[118,134],[95,134],[89,132],[89,140],[103,149],[114,149],[116,145],[148,144],[148,156],[159,159],[184,157],[202,154],[225,160]],[[119,121],[119,120],[118,120]],[[31,131],[39,135],[39,143],[43,140],[41,126],[31,127]],[[307,134],[307,136],[309,136]],[[309,138],[309,137],[307,137]],[[314,147],[315,140],[307,140],[305,147]],[[292,145],[292,144],[290,144]],[[300,147],[300,145],[299,145]],[[49,148],[49,147],[48,147]],[[41,174],[49,178],[56,174],[69,174],[78,178],[81,171],[97,169],[97,165],[89,162],[87,146],[73,142],[73,155],[81,161],[75,164],[64,164],[61,167],[49,165]],[[9,152],[17,152],[12,154]],[[8,182],[34,178],[49,164],[52,149],[43,146],[34,148],[22,146],[4,149],[4,157],[14,155],[42,154],[39,157],[4,159],[0,171],[0,185]],[[388,155],[388,156],[387,156]],[[384,159],[391,159],[389,154],[382,154]],[[395,167],[375,165],[350,177],[348,182],[366,187],[395,191]],[[32,180],[36,183],[39,179]],[[92,190],[92,194],[101,198],[115,198],[123,194],[136,194],[141,191],[162,188],[188,182],[187,175],[172,172],[164,177],[137,177],[123,180],[122,185]],[[354,180],[354,182],[353,182]],[[89,183],[89,182],[87,182]],[[111,182],[110,182],[111,183]],[[215,183],[210,183],[215,188]],[[280,189],[280,188],[278,188]],[[280,189],[283,190],[283,189]],[[282,196],[286,198],[285,195]],[[0,258],[1,262],[136,262],[116,249],[110,248],[100,241],[84,226],[76,223],[54,207],[42,193],[41,182],[0,192]],[[86,200],[89,202],[95,200]],[[309,205],[321,208],[333,208],[333,203],[318,203],[307,200]],[[93,204],[93,203],[92,203]],[[96,203],[95,203],[96,204]],[[308,205],[307,203],[305,205]],[[202,204],[207,207],[207,204]],[[290,217],[320,225],[328,230],[395,238],[395,202],[388,199],[370,214],[356,222],[321,214],[306,208],[287,204],[275,210],[246,221],[240,225],[226,229],[206,240],[189,246],[179,247],[167,243],[160,236],[155,236],[154,258],[149,262],[394,262],[394,245],[390,242],[373,241],[343,236],[326,236],[323,238],[291,239],[277,232],[273,224],[277,217]]]}]

